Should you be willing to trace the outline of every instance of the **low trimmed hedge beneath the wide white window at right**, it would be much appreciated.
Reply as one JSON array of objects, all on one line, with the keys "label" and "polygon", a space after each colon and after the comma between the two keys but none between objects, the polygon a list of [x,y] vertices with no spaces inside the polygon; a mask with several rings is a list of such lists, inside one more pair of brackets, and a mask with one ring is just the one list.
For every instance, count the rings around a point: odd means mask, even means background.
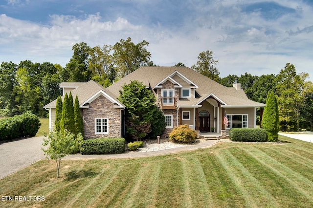
[{"label": "low trimmed hedge beneath the wide white window at right", "polygon": [[232,128],[229,130],[229,139],[240,142],[266,142],[268,141],[265,129]]}]

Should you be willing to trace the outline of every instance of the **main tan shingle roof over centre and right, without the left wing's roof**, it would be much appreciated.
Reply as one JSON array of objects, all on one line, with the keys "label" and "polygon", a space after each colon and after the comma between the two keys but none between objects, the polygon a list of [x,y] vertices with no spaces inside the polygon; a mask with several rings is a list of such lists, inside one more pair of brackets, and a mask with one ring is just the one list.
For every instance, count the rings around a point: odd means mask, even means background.
[{"label": "main tan shingle roof over centre and right, without the left wing's roof", "polygon": [[200,98],[179,100],[178,105],[196,105],[206,95],[214,94],[223,100],[226,105],[255,107],[265,106],[263,103],[254,102],[248,99],[243,90],[236,90],[233,87],[225,87],[188,67],[140,67],[133,73],[109,86],[108,89],[117,97],[119,95],[119,90],[122,89],[122,86],[125,83],[129,84],[131,80],[149,80],[150,86],[153,88],[157,83],[174,73],[176,70],[198,85],[199,88],[196,88],[196,92],[201,96]]}]

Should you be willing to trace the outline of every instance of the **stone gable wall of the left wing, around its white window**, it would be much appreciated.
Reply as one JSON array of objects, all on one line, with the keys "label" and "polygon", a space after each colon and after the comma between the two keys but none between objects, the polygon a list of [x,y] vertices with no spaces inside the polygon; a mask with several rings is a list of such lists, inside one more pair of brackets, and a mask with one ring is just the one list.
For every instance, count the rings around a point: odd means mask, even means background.
[{"label": "stone gable wall of the left wing, around its white window", "polygon": [[[89,103],[89,108],[83,110],[84,136],[87,139],[120,137],[120,109],[113,108],[113,103],[103,95]],[[95,118],[108,118],[108,134],[95,134]]]}]

